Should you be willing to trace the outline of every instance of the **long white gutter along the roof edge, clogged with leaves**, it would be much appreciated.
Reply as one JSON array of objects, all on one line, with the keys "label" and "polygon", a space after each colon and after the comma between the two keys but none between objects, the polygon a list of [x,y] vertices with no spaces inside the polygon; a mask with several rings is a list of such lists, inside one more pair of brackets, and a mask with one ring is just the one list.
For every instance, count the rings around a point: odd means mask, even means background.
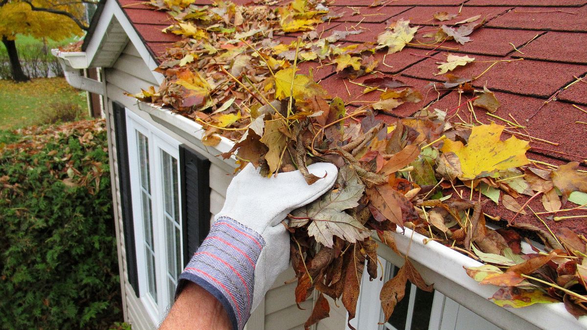
[{"label": "long white gutter along the roof edge, clogged with leaves", "polygon": [[[200,124],[178,113],[149,103],[139,102],[139,109],[149,113],[153,120],[163,124],[174,133],[191,137],[188,140],[203,147],[211,154],[224,153],[234,146],[234,142],[221,137],[220,143],[214,148],[205,147],[201,143],[204,129]],[[235,160],[234,156],[232,159]],[[524,308],[502,308],[495,305],[488,298],[492,297],[499,287],[480,285],[468,277],[463,268],[483,265],[481,262],[451,250],[436,241],[424,244],[426,237],[408,228],[404,233],[400,228],[397,228],[394,237],[398,250],[409,256],[427,284],[433,283],[434,289],[502,329],[587,329],[587,317],[575,319],[566,311],[562,302],[534,304]],[[379,244],[377,254],[395,265],[403,265],[403,257],[397,255],[383,243]],[[379,304],[373,304],[373,308],[380,308]]]}]

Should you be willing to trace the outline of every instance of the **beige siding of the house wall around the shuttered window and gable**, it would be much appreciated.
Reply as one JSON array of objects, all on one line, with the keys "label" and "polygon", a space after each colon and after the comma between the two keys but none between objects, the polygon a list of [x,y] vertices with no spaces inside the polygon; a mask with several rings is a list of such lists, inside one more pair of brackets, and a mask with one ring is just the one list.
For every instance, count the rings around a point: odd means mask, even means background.
[{"label": "beige siding of the house wall around the shuttered window and gable", "polygon": [[[158,86],[157,80],[153,73],[150,72],[143,59],[140,58],[139,52],[131,42],[127,44],[119,59],[116,60],[112,68],[104,69],[104,78],[106,81],[106,97],[109,100],[106,104],[106,122],[109,130],[109,148],[110,148],[110,169],[113,184],[113,202],[114,218],[117,227],[117,241],[119,243],[119,268],[121,286],[123,292],[124,319],[132,324],[133,329],[153,329],[158,324],[150,321],[150,316],[144,309],[139,298],[136,297],[133,288],[129,284],[129,278],[126,267],[126,248],[123,240],[122,225],[122,208],[120,205],[120,187],[118,183],[118,161],[116,159],[116,143],[114,135],[114,122],[112,116],[112,102],[122,103],[127,109],[130,109],[143,119],[147,120],[158,129],[166,132],[180,143],[184,143],[192,149],[199,151],[205,156],[209,156],[210,166],[210,220],[214,214],[218,213],[222,205],[228,184],[232,179],[234,167],[225,161],[214,157],[215,154],[207,152],[206,147],[199,141],[190,139],[189,136],[179,136],[170,132],[151,117],[139,110],[135,99],[125,96],[126,93],[138,93],[140,89],[147,89],[149,86]],[[267,292],[265,301],[251,315],[247,324],[248,330],[263,329],[303,329],[303,323],[309,317],[312,311],[313,299],[304,302],[301,307],[305,310],[298,309],[295,304],[294,288],[295,282],[284,285],[285,281],[294,278],[294,271],[290,268],[284,272],[275,285]]]}]

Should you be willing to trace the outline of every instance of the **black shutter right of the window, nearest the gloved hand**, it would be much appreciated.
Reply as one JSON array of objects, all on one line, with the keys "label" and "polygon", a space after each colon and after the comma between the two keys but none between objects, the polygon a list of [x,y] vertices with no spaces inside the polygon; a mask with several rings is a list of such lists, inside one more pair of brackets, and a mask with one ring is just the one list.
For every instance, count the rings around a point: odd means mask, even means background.
[{"label": "black shutter right of the window, nearest the gloved hand", "polygon": [[210,160],[182,144],[180,177],[183,254],[187,265],[210,231]]}]

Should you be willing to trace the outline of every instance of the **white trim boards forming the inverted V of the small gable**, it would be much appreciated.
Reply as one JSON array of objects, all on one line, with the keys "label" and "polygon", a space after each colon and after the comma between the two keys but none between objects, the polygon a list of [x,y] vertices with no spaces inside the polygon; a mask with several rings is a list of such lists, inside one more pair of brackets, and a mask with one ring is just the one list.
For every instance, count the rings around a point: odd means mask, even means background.
[{"label": "white trim boards forming the inverted V of the small gable", "polygon": [[88,63],[91,64],[92,60],[96,56],[96,53],[100,51],[100,45],[102,44],[102,40],[106,37],[108,26],[110,25],[110,22],[112,22],[113,18],[116,18],[116,20],[120,23],[120,26],[122,26],[124,32],[129,37],[130,42],[133,43],[141,58],[149,70],[151,70],[153,73],[157,83],[161,84],[165,77],[161,73],[154,71],[158,66],[157,62],[155,59],[153,59],[153,56],[151,56],[151,53],[144,44],[143,39],[140,38],[139,34],[136,32],[133,25],[130,23],[129,19],[126,17],[116,0],[107,0],[106,4],[104,4],[102,16],[100,16],[100,20],[97,23],[96,29],[92,35],[92,39],[87,44],[86,53]]}]

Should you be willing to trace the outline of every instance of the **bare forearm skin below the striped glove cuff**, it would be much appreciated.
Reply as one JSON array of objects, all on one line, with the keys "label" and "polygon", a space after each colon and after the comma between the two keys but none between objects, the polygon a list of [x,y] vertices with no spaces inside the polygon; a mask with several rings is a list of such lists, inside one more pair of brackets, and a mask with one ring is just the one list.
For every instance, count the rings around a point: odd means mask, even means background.
[{"label": "bare forearm skin below the striped glove cuff", "polygon": [[199,285],[187,284],[159,329],[231,329],[222,304]]}]

